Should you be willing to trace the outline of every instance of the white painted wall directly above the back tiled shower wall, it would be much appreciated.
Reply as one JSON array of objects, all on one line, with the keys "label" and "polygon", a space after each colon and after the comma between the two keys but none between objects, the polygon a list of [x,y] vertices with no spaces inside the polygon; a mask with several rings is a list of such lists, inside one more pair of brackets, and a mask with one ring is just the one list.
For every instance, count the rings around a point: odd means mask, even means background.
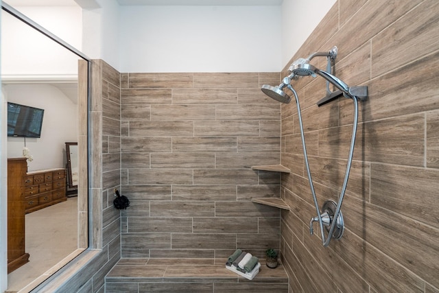
[{"label": "white painted wall directly above the back tiled shower wall", "polygon": [[280,6],[121,6],[121,72],[281,69]]}]

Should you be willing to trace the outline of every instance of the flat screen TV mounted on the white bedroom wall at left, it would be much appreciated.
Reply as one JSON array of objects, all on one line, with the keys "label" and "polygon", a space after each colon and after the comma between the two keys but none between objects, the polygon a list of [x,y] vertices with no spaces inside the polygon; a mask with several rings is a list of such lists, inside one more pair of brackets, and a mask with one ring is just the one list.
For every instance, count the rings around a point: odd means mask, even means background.
[{"label": "flat screen TV mounted on the white bedroom wall at left", "polygon": [[41,135],[44,110],[8,102],[8,137]]}]

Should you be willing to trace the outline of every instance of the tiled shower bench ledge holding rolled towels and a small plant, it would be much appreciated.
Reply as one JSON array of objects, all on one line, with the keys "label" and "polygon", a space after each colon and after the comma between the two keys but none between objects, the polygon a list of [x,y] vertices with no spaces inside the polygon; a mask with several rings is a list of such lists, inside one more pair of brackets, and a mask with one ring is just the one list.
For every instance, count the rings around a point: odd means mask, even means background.
[{"label": "tiled shower bench ledge holding rolled towels and a small plant", "polygon": [[[251,281],[226,269],[226,259],[120,259],[105,278],[106,292],[287,293],[283,266],[261,270]],[[139,291],[138,291],[139,290]]]}]

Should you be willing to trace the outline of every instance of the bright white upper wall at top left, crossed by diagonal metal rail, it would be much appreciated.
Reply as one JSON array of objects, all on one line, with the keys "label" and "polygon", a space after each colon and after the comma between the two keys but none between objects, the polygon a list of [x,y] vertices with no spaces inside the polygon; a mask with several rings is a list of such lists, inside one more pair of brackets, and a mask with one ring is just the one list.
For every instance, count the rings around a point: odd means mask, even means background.
[{"label": "bright white upper wall at top left, crossed by diagonal metal rail", "polygon": [[[82,47],[82,13],[79,6],[16,8],[62,40]],[[78,56],[28,25],[1,11],[1,75],[3,78],[75,77]],[[5,75],[7,75],[5,77]]]}]

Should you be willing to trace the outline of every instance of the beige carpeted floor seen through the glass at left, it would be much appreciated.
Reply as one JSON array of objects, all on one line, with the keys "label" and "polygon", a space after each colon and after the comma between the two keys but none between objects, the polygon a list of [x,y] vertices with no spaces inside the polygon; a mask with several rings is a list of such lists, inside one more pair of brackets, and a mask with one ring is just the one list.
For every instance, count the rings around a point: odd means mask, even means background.
[{"label": "beige carpeted floor seen through the glass at left", "polygon": [[8,290],[18,292],[78,248],[78,198],[68,198],[25,216],[29,262],[8,274]]}]

